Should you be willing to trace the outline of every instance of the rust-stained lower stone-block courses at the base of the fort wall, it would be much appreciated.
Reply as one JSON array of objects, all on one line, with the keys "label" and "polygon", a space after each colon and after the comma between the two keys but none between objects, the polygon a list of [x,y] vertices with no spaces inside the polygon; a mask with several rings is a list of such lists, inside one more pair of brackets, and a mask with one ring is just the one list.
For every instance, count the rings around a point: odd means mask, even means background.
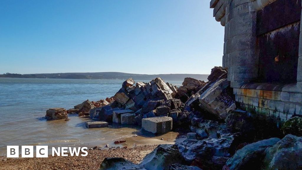
[{"label": "rust-stained lower stone-block courses at the base of the fort wall", "polygon": [[284,122],[302,115],[302,93],[233,88],[236,102],[245,110],[255,111],[275,121]]}]

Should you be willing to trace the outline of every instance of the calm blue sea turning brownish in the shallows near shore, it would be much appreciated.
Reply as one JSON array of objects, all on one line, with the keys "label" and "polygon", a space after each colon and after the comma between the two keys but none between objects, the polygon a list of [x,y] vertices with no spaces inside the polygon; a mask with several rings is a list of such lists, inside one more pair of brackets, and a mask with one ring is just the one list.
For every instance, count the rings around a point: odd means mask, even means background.
[{"label": "calm blue sea turning brownish in the shallows near shore", "polygon": [[[66,109],[84,100],[113,96],[122,80],[20,79],[0,78],[0,155],[7,145],[74,146],[89,143],[103,145],[115,139],[133,136],[135,126],[109,126],[86,129],[89,119],[69,115],[70,120],[46,121],[46,110]],[[147,81],[145,81],[147,82]],[[180,86],[180,81],[170,81]],[[93,145],[92,144],[92,145]]]}]

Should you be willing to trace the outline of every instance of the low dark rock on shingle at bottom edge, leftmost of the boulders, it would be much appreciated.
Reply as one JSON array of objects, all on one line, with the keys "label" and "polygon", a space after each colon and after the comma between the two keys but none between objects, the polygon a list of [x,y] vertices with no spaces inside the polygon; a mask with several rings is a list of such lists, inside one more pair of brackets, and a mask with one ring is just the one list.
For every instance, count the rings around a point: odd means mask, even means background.
[{"label": "low dark rock on shingle at bottom edge, leftmost of the boulders", "polygon": [[105,158],[100,170],[146,170],[143,166],[136,165],[124,158]]}]

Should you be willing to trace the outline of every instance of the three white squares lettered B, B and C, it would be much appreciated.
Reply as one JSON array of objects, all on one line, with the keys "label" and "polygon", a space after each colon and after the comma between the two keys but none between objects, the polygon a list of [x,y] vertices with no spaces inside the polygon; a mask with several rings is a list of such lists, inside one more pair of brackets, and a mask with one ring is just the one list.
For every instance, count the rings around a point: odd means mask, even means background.
[{"label": "three white squares lettered B, B and C", "polygon": [[[7,158],[19,158],[19,146],[7,146],[6,151]],[[22,158],[34,157],[34,146],[21,146]],[[47,158],[48,146],[36,146],[36,157]]]}]

